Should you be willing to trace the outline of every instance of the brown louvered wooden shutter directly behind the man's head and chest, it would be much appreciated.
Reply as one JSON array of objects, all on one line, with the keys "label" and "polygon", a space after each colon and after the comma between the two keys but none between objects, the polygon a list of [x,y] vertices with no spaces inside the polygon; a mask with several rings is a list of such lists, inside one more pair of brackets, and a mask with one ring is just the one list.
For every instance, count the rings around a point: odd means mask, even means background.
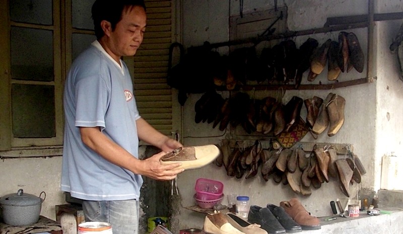
[{"label": "brown louvered wooden shutter directly behind the man's head and chest", "polygon": [[147,29],[134,57],[134,86],[140,115],[165,135],[172,132],[172,91],[167,85],[172,43],[171,1],[146,0]]}]

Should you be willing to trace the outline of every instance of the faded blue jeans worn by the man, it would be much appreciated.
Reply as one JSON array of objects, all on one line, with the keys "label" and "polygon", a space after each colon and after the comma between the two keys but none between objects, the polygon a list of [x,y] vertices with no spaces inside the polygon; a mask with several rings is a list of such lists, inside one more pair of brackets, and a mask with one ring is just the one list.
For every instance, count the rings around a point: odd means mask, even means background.
[{"label": "faded blue jeans worn by the man", "polygon": [[83,200],[85,220],[108,222],[113,234],[139,234],[140,206],[137,200]]}]

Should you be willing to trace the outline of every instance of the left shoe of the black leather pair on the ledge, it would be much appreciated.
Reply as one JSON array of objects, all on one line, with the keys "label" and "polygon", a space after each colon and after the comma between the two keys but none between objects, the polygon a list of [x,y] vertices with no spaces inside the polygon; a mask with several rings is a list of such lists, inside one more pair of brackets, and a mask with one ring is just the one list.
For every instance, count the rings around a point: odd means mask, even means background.
[{"label": "left shoe of the black leather pair on the ledge", "polygon": [[248,222],[260,224],[260,228],[268,234],[286,233],[286,229],[280,224],[272,211],[267,207],[251,205],[248,213]]}]

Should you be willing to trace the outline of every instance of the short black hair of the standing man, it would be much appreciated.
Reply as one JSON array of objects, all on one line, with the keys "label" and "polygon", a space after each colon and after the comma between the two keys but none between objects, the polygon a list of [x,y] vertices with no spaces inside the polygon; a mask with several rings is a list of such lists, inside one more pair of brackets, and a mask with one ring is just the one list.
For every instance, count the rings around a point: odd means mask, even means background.
[{"label": "short black hair of the standing man", "polygon": [[101,21],[108,21],[112,30],[115,30],[116,24],[122,19],[123,10],[135,6],[140,6],[146,11],[143,0],[96,0],[92,5],[91,13],[97,39],[104,36]]}]

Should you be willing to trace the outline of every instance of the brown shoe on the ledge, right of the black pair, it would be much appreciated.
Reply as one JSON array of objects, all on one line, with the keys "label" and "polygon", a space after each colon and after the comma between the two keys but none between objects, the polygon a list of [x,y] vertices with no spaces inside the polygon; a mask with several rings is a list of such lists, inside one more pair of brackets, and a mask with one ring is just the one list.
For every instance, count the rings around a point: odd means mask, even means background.
[{"label": "brown shoe on the ledge, right of the black pair", "polygon": [[302,230],[317,230],[321,228],[319,219],[311,216],[298,199],[292,198],[290,201],[282,201],[280,202],[280,206],[302,227]]}]

